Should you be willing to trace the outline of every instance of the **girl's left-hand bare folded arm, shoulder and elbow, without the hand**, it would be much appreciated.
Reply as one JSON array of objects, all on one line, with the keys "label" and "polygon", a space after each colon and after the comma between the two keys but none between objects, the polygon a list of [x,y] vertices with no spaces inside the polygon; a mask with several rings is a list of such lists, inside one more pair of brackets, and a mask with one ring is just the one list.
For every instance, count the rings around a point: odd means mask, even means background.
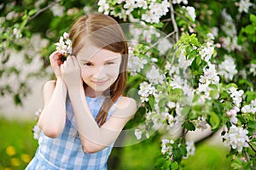
[{"label": "girl's left-hand bare folded arm, shoulder and elbow, without the hand", "polygon": [[50,138],[57,137],[63,130],[66,121],[67,88],[63,80],[44,84],[44,109],[38,120],[38,126]]}]

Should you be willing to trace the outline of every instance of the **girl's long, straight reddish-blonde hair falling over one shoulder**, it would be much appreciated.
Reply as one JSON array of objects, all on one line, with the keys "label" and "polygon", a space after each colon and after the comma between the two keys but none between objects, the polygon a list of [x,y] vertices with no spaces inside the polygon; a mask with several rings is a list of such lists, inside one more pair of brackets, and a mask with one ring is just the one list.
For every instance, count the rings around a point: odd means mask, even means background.
[{"label": "girl's long, straight reddish-blonde hair falling over one shoulder", "polygon": [[[122,55],[119,77],[104,92],[105,100],[96,116],[96,122],[102,126],[106,122],[108,111],[125,90],[127,79],[128,46],[125,35],[118,22],[105,14],[84,15],[72,26],[70,37],[73,41],[73,54],[76,55],[83,47],[84,38],[89,38],[96,47],[104,48]],[[84,83],[84,89],[87,85]]]}]

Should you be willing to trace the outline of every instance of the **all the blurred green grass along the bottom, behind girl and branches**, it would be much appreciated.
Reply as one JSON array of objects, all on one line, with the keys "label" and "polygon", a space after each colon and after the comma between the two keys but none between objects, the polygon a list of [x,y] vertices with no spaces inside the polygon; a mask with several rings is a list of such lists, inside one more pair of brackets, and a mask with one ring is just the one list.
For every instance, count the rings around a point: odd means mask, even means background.
[{"label": "all the blurred green grass along the bottom, behind girl and branches", "polygon": [[[38,140],[33,139],[33,121],[15,121],[0,117],[0,170],[24,169],[34,156]],[[108,169],[149,170],[160,156],[160,139],[157,134],[139,144],[113,148]],[[184,160],[183,169],[231,169],[226,158],[229,149],[204,143],[196,147],[195,156]]]}]

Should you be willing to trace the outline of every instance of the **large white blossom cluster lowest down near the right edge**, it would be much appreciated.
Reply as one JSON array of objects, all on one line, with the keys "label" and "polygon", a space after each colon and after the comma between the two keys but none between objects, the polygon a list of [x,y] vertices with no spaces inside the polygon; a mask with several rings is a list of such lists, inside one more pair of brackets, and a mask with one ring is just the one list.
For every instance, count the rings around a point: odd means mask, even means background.
[{"label": "large white blossom cluster lowest down near the right edge", "polygon": [[247,133],[247,129],[232,125],[230,131],[224,135],[224,144],[231,145],[234,150],[237,149],[241,152],[243,147],[248,147],[249,138]]}]

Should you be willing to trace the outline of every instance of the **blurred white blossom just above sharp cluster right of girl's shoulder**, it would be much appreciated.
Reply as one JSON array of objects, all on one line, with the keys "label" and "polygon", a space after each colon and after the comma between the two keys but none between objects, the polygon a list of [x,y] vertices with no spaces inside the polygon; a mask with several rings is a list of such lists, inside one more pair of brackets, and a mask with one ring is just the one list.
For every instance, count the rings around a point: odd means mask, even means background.
[{"label": "blurred white blossom just above sharp cluster right of girl's shoulder", "polygon": [[162,84],[164,82],[164,75],[161,75],[159,69],[155,68],[154,65],[151,70],[148,71],[146,77],[148,78],[148,81],[153,84]]}]

